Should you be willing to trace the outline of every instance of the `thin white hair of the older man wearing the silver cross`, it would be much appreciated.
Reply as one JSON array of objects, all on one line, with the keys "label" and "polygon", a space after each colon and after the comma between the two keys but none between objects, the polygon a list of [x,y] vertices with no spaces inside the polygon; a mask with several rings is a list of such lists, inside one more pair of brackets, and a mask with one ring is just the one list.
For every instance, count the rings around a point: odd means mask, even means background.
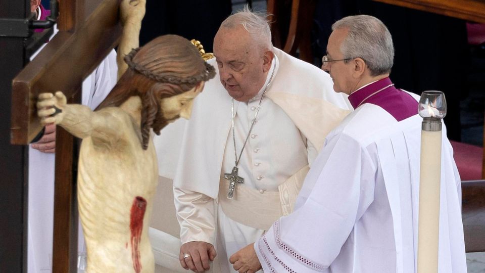
[{"label": "thin white hair of the older man wearing the silver cross", "polygon": [[269,21],[266,19],[267,16],[265,13],[252,12],[246,5],[243,10],[227,17],[222,22],[221,27],[235,28],[238,25],[243,25],[258,45],[272,50],[271,30]]}]

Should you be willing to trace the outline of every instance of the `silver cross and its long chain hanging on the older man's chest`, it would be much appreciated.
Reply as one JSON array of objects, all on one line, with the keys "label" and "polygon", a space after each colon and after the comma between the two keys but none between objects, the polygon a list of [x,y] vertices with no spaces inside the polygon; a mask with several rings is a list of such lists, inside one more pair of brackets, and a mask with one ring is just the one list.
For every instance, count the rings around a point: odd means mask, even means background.
[{"label": "silver cross and its long chain hanging on the older man's chest", "polygon": [[241,160],[241,156],[243,155],[244,147],[246,147],[246,143],[248,143],[249,136],[251,135],[251,131],[253,130],[254,123],[256,118],[258,117],[259,109],[261,107],[261,103],[263,102],[264,94],[266,93],[266,89],[268,89],[269,85],[273,81],[274,71],[276,70],[276,60],[274,60],[273,65],[273,72],[271,72],[271,76],[269,77],[269,81],[264,87],[263,94],[261,95],[261,99],[259,100],[258,108],[256,109],[256,113],[254,114],[254,118],[251,122],[251,127],[249,128],[248,135],[246,136],[246,140],[243,143],[243,148],[239,153],[239,157],[237,157],[237,149],[236,149],[236,134],[234,129],[234,98],[231,98],[231,117],[232,117],[232,140],[234,141],[234,156],[235,156],[235,166],[232,168],[231,173],[224,173],[224,179],[229,181],[229,192],[227,193],[227,198],[232,199],[234,195],[234,190],[236,184],[243,184],[244,178],[237,175],[237,165],[239,164],[239,160]]}]

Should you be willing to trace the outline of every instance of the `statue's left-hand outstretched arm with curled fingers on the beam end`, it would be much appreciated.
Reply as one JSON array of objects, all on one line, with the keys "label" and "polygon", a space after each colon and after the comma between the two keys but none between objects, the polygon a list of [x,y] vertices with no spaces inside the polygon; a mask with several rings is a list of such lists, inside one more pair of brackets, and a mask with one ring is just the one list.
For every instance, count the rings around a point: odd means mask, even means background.
[{"label": "statue's left-hand outstretched arm with curled fingers on the beam end", "polygon": [[93,112],[80,104],[67,104],[60,91],[55,95],[42,93],[38,97],[37,114],[42,124],[59,124],[76,138],[91,136],[93,140],[113,142],[122,134],[120,119],[106,111]]}]

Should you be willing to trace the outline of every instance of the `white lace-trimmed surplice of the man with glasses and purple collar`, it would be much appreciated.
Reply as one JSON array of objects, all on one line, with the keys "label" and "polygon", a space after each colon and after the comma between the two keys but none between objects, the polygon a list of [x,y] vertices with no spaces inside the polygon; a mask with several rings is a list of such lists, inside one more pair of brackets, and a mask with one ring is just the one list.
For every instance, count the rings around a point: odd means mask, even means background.
[{"label": "white lace-trimmed surplice of the man with glasses and purple collar", "polygon": [[[421,121],[364,104],[327,135],[294,213],[256,244],[266,272],[415,272]],[[461,183],[443,130],[438,272],[466,272]]]}]

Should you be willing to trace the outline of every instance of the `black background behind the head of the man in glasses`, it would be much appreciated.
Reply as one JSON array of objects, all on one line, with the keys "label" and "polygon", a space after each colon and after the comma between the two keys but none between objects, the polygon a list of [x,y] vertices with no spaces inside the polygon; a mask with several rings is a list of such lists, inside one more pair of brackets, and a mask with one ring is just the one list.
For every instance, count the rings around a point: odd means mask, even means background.
[{"label": "black background behind the head of the man in glasses", "polygon": [[[483,93],[485,83],[483,78],[481,83],[469,78],[479,68],[472,67],[472,58],[477,56],[471,54],[467,43],[466,22],[373,1],[322,0],[318,1],[314,16],[314,55],[321,56],[325,52],[333,22],[357,14],[375,16],[389,28],[396,50],[391,73],[396,86],[419,95],[424,90],[443,91],[448,102],[448,115],[445,117],[448,137],[481,145],[481,133],[479,140],[462,138],[462,125],[465,123],[466,126],[470,123],[483,126],[483,99],[473,106],[477,108],[473,111],[481,111],[481,115],[476,116],[480,118],[475,121],[469,120],[467,112],[470,109],[462,113],[460,101],[470,97],[470,87],[478,87],[478,90],[472,90],[474,94]],[[462,115],[466,119],[464,124]]]}]

